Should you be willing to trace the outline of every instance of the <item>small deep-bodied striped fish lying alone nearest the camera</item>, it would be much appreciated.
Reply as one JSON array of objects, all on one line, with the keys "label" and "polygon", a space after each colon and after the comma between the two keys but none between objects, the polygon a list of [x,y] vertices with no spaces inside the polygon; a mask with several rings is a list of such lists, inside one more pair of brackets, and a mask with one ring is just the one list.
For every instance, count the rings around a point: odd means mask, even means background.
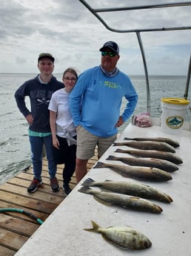
[{"label": "small deep-bodied striped fish lying alone nearest the camera", "polygon": [[121,249],[141,250],[152,246],[150,239],[130,226],[109,226],[102,228],[95,221],[91,221],[93,228],[84,229],[88,232],[100,233],[105,240]]}]

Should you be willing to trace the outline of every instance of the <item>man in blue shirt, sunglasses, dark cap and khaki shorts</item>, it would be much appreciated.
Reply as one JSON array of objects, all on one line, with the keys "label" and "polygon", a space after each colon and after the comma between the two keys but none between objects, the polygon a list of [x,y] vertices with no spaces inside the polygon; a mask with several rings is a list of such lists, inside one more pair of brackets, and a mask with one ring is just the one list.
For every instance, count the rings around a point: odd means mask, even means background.
[{"label": "man in blue shirt, sunglasses, dark cap and khaki shorts", "polygon": [[[70,93],[70,111],[77,130],[76,180],[87,174],[87,161],[113,144],[120,127],[135,110],[138,95],[130,78],[116,67],[119,48],[109,41],[100,49],[101,65],[85,70]],[[127,106],[120,116],[123,96]]]}]

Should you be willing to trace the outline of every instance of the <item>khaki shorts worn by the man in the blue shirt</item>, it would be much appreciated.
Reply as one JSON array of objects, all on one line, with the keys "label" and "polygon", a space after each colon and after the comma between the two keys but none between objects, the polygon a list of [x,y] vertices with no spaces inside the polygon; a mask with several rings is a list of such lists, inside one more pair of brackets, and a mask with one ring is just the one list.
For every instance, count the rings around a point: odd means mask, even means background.
[{"label": "khaki shorts worn by the man in the blue shirt", "polygon": [[95,155],[95,148],[98,145],[98,157],[101,157],[110,145],[116,140],[117,134],[111,137],[97,137],[90,134],[81,125],[77,128],[77,152],[76,157],[81,160],[88,160]]}]

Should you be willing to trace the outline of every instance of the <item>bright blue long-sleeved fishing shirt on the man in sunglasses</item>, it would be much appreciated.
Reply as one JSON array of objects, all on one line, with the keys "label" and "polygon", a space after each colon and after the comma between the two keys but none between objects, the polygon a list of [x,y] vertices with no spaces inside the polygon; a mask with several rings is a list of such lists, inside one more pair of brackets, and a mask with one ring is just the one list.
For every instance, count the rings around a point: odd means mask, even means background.
[{"label": "bright blue long-sleeved fishing shirt on the man in sunglasses", "polygon": [[135,110],[138,95],[130,78],[120,70],[113,77],[105,76],[99,66],[85,70],[70,93],[70,111],[75,126],[97,137],[117,134],[123,96],[127,105],[121,114],[124,122]]}]

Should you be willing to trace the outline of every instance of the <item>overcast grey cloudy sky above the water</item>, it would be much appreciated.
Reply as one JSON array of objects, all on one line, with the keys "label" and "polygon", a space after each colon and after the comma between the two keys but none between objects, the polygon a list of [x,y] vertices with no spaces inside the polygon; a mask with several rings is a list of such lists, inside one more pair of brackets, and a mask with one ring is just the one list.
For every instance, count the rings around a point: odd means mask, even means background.
[{"label": "overcast grey cloudy sky above the water", "polygon": [[[178,0],[167,0],[175,2]],[[94,8],[164,3],[164,0],[87,0]],[[184,2],[181,0],[181,2]],[[104,5],[103,5],[104,4]],[[109,5],[110,4],[110,5]],[[191,7],[158,11],[99,13],[120,30],[191,26]],[[107,30],[78,0],[1,0],[0,73],[38,73],[41,52],[55,56],[54,73],[67,67],[81,71],[100,64],[99,48],[107,41],[120,47],[118,68],[129,75],[144,74],[135,33]],[[150,75],[187,75],[191,30],[141,33]]]}]

